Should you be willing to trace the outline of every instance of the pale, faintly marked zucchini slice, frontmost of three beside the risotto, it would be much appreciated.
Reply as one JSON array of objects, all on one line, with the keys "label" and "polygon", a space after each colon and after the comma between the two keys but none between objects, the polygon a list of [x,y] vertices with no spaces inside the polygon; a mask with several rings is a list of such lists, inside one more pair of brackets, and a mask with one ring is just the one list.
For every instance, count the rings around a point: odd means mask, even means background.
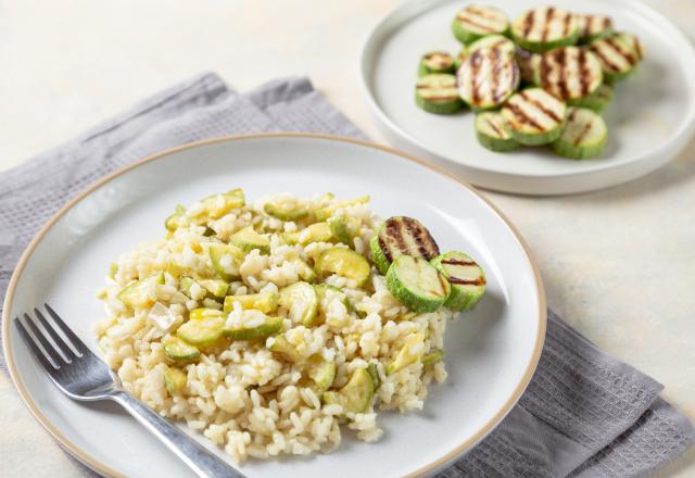
[{"label": "pale, faintly marked zucchini slice, frontmost of three beside the risotto", "polygon": [[393,261],[387,287],[399,302],[418,313],[437,311],[451,293],[451,285],[432,264],[409,255]]}]

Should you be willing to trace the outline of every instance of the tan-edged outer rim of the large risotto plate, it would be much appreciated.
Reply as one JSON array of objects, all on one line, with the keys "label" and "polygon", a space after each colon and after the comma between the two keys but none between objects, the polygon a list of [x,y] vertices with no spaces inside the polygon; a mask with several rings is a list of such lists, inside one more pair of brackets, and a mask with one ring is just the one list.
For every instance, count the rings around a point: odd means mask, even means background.
[{"label": "tan-edged outer rim of the large risotto plate", "polygon": [[26,247],[26,249],[22,253],[20,261],[17,262],[17,265],[15,266],[14,272],[12,273],[12,276],[10,278],[7,294],[3,301],[2,317],[1,317],[2,349],[3,349],[5,362],[8,364],[8,370],[10,373],[10,377],[12,379],[12,382],[14,383],[15,389],[18,391],[20,397],[22,398],[22,401],[29,408],[29,412],[31,413],[31,415],[58,441],[58,443],[64,450],[66,450],[70,454],[72,454],[74,457],[76,457],[78,461],[80,461],[83,464],[87,465],[88,467],[92,468],[93,470],[97,470],[101,474],[104,474],[111,477],[126,478],[125,475],[121,474],[119,471],[116,471],[115,469],[113,469],[112,467],[110,467],[99,458],[84,451],[80,446],[75,444],[72,440],[66,438],[58,429],[58,427],[55,427],[51,423],[51,420],[42,413],[42,411],[39,408],[36,401],[34,400],[34,398],[29,393],[28,389],[26,388],[24,383],[24,379],[18,372],[17,365],[14,358],[14,349],[13,349],[13,343],[11,341],[12,319],[10,317],[10,311],[12,310],[12,303],[14,300],[14,295],[16,293],[18,278],[23,274],[24,268],[29,257],[33,255],[35,249],[43,240],[45,236],[49,232],[49,230],[53,228],[55,223],[60,218],[62,218],[67,212],[70,212],[78,202],[80,202],[83,199],[87,198],[92,192],[97,191],[99,188],[106,185],[111,180],[119,176],[123,176],[126,173],[135,171],[144,164],[149,164],[153,161],[166,158],[170,154],[175,154],[180,151],[195,149],[202,146],[214,144],[214,143],[233,142],[238,140],[255,140],[255,139],[264,139],[264,138],[275,138],[275,139],[303,138],[303,139],[328,140],[328,141],[337,141],[342,143],[350,143],[350,144],[354,144],[363,148],[375,149],[378,151],[387,152],[392,155],[399,156],[402,160],[412,161],[416,164],[419,164],[420,166],[431,169],[434,173],[439,174],[440,176],[444,176],[444,178],[448,180],[453,180],[457,183],[460,187],[468,189],[470,192],[477,196],[480,200],[482,200],[489,207],[491,207],[492,211],[495,214],[497,214],[497,216],[502,219],[505,226],[509,228],[509,230],[511,231],[511,235],[516,239],[517,243],[520,246],[521,252],[523,253],[529,265],[531,266],[531,272],[533,273],[534,284],[535,284],[536,294],[538,294],[539,330],[535,337],[534,349],[533,349],[533,352],[531,353],[529,363],[527,364],[526,372],[523,373],[523,376],[521,377],[521,380],[519,381],[519,383],[517,383],[517,386],[515,387],[513,393],[506,399],[504,405],[492,416],[490,420],[488,420],[486,424],[484,424],[484,426],[482,426],[477,432],[475,432],[472,437],[470,437],[468,440],[464,441],[463,443],[458,444],[453,450],[450,450],[448,452],[444,453],[434,462],[426,466],[422,466],[414,471],[410,471],[406,476],[415,477],[415,476],[428,475],[435,471],[437,469],[441,468],[442,466],[453,461],[455,457],[462,455],[464,452],[471,449],[475,444],[477,444],[480,440],[482,440],[488,433],[490,433],[502,422],[502,419],[509,413],[509,411],[514,407],[514,405],[516,405],[519,398],[521,397],[527,386],[531,381],[531,378],[540,361],[541,352],[543,350],[543,344],[545,341],[545,332],[546,332],[546,325],[547,325],[547,305],[545,300],[545,290],[543,287],[543,281],[541,279],[541,275],[539,273],[539,268],[535,263],[535,260],[533,259],[533,255],[531,254],[531,250],[529,246],[526,243],[519,230],[494,204],[492,204],[485,197],[483,197],[473,186],[456,177],[454,174],[448,173],[445,169],[442,169],[435,165],[432,165],[424,160],[420,160],[415,155],[399,151],[388,146],[378,144],[375,142],[365,141],[361,139],[346,138],[346,137],[337,136],[337,135],[312,134],[312,133],[260,133],[260,134],[250,134],[250,135],[229,135],[229,136],[223,136],[223,137],[216,137],[216,138],[208,138],[208,139],[189,142],[189,143],[181,144],[174,148],[168,148],[157,153],[150,154],[141,160],[136,161],[132,164],[129,164],[119,169],[116,169],[115,172],[112,172],[109,175],[92,183],[90,186],[88,186],[86,189],[84,189],[81,192],[79,192],[77,196],[71,199],[61,209],[59,209],[51,216],[51,218],[39,229],[39,231],[36,234],[36,236],[31,239],[29,244]]}]

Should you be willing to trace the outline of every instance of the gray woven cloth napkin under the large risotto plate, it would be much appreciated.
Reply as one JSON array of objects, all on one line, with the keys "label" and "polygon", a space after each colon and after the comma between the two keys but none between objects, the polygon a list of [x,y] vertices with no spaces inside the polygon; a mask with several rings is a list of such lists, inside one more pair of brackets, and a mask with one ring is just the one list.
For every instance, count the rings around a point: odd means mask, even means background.
[{"label": "gray woven cloth napkin under the large risotto plate", "polygon": [[[29,239],[99,177],[198,139],[280,130],[364,138],[305,78],[276,80],[239,95],[205,74],[1,174],[0,300]],[[644,475],[695,441],[687,418],[659,399],[661,389],[548,312],[541,362],[518,405],[482,443],[438,476]]]}]

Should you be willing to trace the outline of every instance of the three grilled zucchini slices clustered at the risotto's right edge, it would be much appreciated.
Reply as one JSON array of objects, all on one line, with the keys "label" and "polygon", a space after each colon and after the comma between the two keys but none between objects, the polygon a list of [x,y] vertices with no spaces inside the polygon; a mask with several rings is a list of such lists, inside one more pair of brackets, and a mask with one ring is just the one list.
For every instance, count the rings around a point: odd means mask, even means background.
[{"label": "three grilled zucchini slices clustered at the risotto's right edge", "polygon": [[442,305],[469,311],[485,292],[482,267],[463,252],[440,254],[429,230],[410,217],[384,221],[369,249],[391,294],[414,312],[434,312]]}]

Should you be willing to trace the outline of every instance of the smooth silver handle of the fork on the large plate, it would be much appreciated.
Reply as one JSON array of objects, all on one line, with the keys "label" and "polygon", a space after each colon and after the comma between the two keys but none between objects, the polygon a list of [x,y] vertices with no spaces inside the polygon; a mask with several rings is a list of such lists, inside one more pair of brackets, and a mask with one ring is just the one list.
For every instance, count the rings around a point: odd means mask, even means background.
[{"label": "smooth silver handle of the fork on the large plate", "polygon": [[182,460],[199,477],[243,477],[243,475],[236,471],[200,443],[128,393],[117,391],[112,395],[112,399],[162,440],[164,444]]}]

